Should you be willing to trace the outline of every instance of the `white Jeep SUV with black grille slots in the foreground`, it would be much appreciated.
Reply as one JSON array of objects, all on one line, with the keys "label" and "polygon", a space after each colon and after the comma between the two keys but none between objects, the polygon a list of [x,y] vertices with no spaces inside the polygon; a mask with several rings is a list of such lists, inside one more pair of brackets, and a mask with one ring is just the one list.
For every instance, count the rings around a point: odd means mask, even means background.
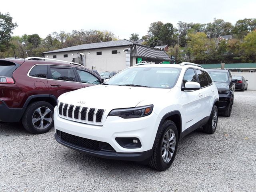
[{"label": "white Jeep SUV with black grille slots in the foreground", "polygon": [[166,170],[180,139],[200,126],[215,132],[218,98],[197,64],[133,66],[104,84],[62,94],[54,109],[55,139],[86,154]]}]

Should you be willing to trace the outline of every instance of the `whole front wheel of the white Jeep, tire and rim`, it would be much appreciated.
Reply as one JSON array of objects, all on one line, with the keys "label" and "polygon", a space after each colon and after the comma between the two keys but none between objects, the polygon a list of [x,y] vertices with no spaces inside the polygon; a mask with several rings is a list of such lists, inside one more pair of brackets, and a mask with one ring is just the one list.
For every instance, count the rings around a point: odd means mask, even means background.
[{"label": "whole front wheel of the white Jeep, tire and rim", "polygon": [[176,156],[178,147],[178,131],[174,122],[165,120],[160,126],[156,143],[153,147],[153,155],[149,166],[153,169],[164,171],[168,169]]}]

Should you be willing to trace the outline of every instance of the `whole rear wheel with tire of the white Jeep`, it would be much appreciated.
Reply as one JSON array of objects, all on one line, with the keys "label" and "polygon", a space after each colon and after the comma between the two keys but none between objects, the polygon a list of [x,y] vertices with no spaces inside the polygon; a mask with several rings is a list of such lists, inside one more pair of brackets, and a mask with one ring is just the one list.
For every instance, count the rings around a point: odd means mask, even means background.
[{"label": "whole rear wheel with tire of the white Jeep", "polygon": [[214,105],[212,108],[209,121],[207,122],[207,124],[203,126],[203,132],[208,134],[213,134],[216,131],[217,124],[218,124],[218,108],[216,105]]}]

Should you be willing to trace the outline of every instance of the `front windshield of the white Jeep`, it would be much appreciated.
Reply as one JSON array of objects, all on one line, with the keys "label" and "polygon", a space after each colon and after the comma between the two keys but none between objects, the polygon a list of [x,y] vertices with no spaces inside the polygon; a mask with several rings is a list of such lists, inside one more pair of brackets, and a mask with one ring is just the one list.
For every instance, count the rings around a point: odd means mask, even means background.
[{"label": "front windshield of the white Jeep", "polygon": [[133,67],[116,74],[106,84],[172,88],[176,84],[180,70],[170,67]]}]

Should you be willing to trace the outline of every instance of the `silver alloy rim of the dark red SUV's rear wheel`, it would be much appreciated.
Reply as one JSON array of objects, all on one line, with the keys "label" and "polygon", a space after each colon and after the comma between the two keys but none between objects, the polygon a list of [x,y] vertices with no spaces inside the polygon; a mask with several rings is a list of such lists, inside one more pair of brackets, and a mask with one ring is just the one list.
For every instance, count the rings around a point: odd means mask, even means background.
[{"label": "silver alloy rim of the dark red SUV's rear wheel", "polygon": [[32,123],[37,129],[45,129],[53,120],[52,111],[48,107],[40,107],[34,111]]}]

